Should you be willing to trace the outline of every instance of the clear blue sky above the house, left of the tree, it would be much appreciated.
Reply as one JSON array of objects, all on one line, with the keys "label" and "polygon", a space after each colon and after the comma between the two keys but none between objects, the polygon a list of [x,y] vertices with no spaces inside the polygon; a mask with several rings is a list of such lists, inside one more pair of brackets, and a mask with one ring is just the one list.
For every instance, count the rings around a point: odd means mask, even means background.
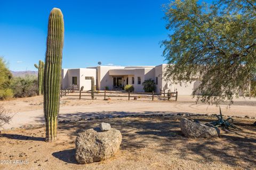
[{"label": "clear blue sky above the house, left of the tree", "polygon": [[36,70],[45,58],[53,7],[65,21],[63,68],[164,63],[167,37],[162,4],[169,0],[0,1],[0,56],[10,70]]}]

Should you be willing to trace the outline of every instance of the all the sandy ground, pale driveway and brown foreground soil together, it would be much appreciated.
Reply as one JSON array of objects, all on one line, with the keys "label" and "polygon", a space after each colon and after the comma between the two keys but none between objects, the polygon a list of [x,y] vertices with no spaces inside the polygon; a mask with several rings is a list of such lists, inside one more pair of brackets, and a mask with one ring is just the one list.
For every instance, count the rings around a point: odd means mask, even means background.
[{"label": "all the sandy ground, pale driveway and brown foreground soil together", "polygon": [[[216,118],[210,114],[218,114],[218,107],[195,104],[189,96],[179,96],[177,102],[63,97],[59,119],[71,122],[59,123],[58,141],[53,143],[44,142],[42,102],[42,96],[37,96],[0,103],[15,114],[0,137],[0,169],[256,169],[256,130],[252,125],[256,117],[255,98],[236,99],[230,108],[221,105],[224,115],[253,117],[234,117],[240,130],[221,130],[220,137],[214,139],[188,139],[180,131],[180,118],[211,122]],[[163,116],[169,113],[204,115]],[[130,117],[93,119],[111,115]],[[100,122],[121,131],[120,150],[102,162],[77,164],[77,133],[97,127]],[[15,164],[16,160],[23,164]]]}]

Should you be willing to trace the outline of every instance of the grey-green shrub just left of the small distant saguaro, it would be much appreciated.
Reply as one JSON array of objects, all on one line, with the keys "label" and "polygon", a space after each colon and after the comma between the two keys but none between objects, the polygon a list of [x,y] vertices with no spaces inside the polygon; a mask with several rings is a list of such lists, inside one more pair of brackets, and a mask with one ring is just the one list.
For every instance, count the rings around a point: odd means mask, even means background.
[{"label": "grey-green shrub just left of the small distant saguaro", "polygon": [[14,97],[31,97],[38,93],[37,78],[35,76],[16,77],[11,83]]}]

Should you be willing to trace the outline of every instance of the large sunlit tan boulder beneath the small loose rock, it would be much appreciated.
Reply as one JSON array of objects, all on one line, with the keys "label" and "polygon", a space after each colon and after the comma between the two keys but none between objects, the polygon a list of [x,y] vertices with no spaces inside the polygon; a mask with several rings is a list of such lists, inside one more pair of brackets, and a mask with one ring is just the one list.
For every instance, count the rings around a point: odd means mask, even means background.
[{"label": "large sunlit tan boulder beneath the small loose rock", "polygon": [[76,138],[76,160],[87,164],[110,158],[121,142],[122,134],[114,128],[103,132],[100,128],[85,130]]}]

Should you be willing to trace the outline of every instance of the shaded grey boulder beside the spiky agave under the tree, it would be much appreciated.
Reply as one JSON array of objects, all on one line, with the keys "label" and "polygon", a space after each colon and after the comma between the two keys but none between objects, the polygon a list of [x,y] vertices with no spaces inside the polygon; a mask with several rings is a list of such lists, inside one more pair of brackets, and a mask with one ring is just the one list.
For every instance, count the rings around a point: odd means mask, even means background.
[{"label": "shaded grey boulder beside the spiky agave under the tree", "polygon": [[189,138],[210,138],[219,136],[215,128],[189,121],[187,118],[182,118],[180,128],[181,132]]}]

